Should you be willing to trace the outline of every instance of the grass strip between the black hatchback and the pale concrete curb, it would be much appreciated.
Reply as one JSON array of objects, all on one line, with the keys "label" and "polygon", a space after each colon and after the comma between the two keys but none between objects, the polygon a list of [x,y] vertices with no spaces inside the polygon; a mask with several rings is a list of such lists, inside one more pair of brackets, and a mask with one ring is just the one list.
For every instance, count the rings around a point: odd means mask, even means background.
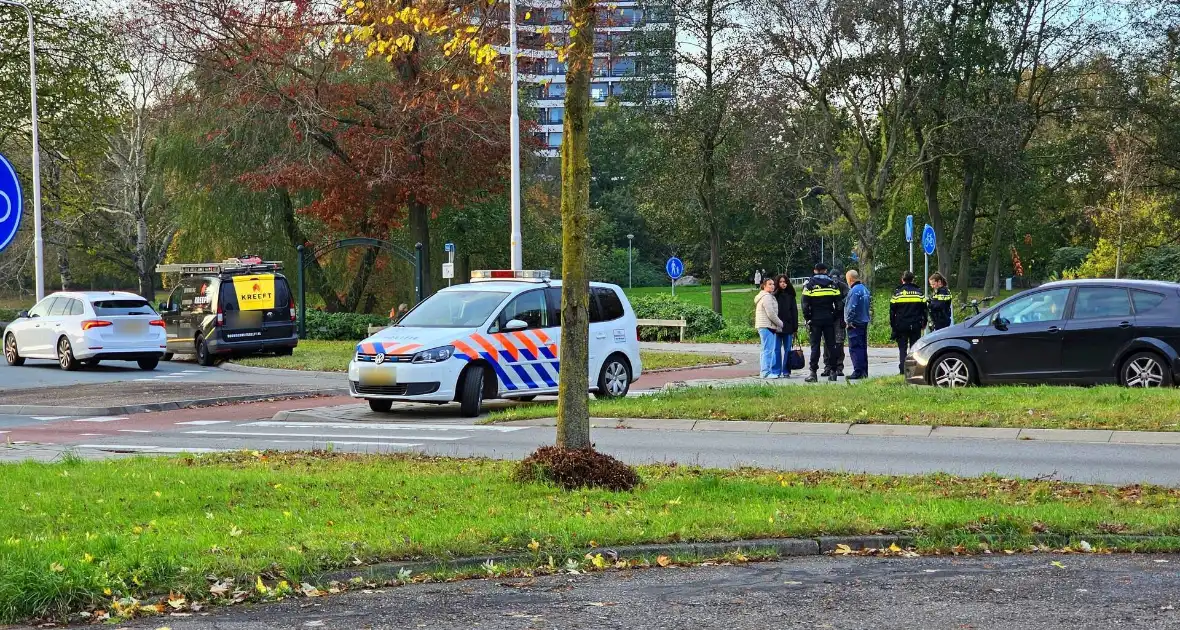
[{"label": "grass strip between the black hatchback and the pale concrete curb", "polygon": [[[997,386],[938,389],[900,378],[854,387],[693,387],[591,401],[599,418],[695,418],[964,427],[1180,431],[1180,393],[1125,387]],[[496,412],[491,421],[551,418],[552,405]]]}]

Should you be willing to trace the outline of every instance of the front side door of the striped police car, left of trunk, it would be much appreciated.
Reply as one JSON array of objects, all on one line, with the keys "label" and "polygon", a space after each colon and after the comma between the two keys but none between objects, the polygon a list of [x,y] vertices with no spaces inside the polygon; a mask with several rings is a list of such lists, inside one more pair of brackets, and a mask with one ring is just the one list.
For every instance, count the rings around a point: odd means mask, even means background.
[{"label": "front side door of the striped police car, left of trunk", "polygon": [[[557,356],[546,333],[552,328],[545,293],[533,289],[513,297],[489,329],[500,355],[493,367],[509,396],[557,387],[556,366],[550,365]],[[525,326],[513,328],[510,322]]]}]

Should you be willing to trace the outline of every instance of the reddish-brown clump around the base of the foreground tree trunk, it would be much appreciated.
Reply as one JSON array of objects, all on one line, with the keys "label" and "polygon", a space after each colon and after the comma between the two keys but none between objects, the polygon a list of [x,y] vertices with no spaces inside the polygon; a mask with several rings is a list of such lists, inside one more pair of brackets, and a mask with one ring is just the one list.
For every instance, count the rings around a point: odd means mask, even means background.
[{"label": "reddish-brown clump around the base of the foreground tree trunk", "polygon": [[640,474],[622,461],[594,448],[542,446],[525,458],[513,478],[520,483],[553,484],[565,490],[597,487],[615,492],[634,490]]}]

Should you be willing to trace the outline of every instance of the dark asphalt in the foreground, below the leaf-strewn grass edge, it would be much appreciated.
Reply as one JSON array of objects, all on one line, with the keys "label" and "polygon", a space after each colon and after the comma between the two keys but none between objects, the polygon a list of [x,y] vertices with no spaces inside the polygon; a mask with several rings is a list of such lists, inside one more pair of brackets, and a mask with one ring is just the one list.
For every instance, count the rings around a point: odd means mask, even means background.
[{"label": "dark asphalt in the foreground, below the leaf-strewn grass edge", "polygon": [[1180,628],[1178,569],[1175,556],[808,557],[742,566],[421,584],[120,625],[1165,630]]}]

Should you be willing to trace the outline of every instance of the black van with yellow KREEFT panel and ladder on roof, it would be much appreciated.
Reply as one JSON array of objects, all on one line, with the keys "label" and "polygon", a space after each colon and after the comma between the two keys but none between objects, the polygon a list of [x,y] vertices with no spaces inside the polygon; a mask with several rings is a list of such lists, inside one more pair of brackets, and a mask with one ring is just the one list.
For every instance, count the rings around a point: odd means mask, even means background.
[{"label": "black van with yellow KREEFT panel and ladder on roof", "polygon": [[168,302],[159,304],[168,354],[195,354],[202,366],[218,356],[256,353],[289,355],[299,343],[295,297],[281,263],[163,264],[179,271]]}]

